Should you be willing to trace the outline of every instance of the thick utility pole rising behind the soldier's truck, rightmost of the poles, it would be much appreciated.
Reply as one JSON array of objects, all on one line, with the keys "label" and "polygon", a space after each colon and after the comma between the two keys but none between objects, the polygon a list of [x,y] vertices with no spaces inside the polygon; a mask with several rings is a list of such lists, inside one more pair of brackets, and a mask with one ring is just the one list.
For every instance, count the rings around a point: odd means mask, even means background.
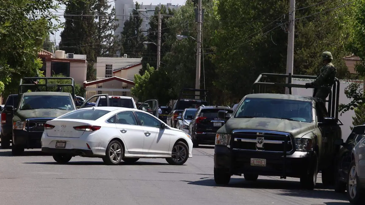
[{"label": "thick utility pole rising behind the soldier's truck, rightmost of the poles", "polygon": [[[294,27],[295,27],[295,0],[289,3],[289,28],[288,28],[288,52],[287,52],[287,74],[293,74],[294,66]],[[288,78],[287,78],[288,83]],[[289,88],[285,87],[285,94],[289,94]]]}]

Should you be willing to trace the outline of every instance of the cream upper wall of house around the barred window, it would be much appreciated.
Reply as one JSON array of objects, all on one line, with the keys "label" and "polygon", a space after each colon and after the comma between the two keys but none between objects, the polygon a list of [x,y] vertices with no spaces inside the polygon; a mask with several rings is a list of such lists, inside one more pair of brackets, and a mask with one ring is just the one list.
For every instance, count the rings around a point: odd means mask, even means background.
[{"label": "cream upper wall of house around the barred window", "polygon": [[127,67],[130,65],[135,65],[140,63],[142,58],[114,58],[114,57],[97,57],[96,59],[96,77],[105,77],[105,65],[112,64],[113,71]]}]

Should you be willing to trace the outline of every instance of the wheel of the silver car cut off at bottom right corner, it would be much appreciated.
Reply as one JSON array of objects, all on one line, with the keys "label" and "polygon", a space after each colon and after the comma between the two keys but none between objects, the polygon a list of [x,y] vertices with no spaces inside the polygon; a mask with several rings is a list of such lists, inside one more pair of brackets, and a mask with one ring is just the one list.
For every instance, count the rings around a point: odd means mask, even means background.
[{"label": "wheel of the silver car cut off at bottom right corner", "polygon": [[354,161],[351,162],[348,173],[349,180],[347,180],[346,186],[347,197],[351,204],[363,204],[365,198],[364,189],[360,187],[356,171],[356,164]]}]

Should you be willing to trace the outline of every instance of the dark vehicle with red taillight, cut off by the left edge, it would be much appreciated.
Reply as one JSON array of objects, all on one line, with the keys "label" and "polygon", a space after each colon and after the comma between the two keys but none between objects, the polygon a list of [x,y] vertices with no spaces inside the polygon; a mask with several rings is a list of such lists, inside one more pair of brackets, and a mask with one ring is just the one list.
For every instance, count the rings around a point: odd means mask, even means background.
[{"label": "dark vehicle with red taillight, cut off by the left edge", "polygon": [[13,124],[12,119],[15,110],[7,110],[5,107],[18,107],[18,94],[11,94],[7,98],[4,109],[1,111],[1,148],[8,149],[10,147],[10,140],[12,139]]}]

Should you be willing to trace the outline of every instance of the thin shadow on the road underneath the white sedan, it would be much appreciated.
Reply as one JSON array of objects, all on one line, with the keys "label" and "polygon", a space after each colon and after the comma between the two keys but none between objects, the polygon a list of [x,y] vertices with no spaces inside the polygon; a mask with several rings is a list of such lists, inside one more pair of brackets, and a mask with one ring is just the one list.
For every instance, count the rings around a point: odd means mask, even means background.
[{"label": "thin shadow on the road underneath the white sedan", "polygon": [[[103,161],[95,162],[95,161],[78,161],[78,162],[68,162],[65,164],[57,163],[57,162],[23,162],[23,164],[37,164],[37,165],[105,165]],[[128,166],[128,165],[169,165],[168,163],[160,163],[160,162],[134,162],[134,163],[126,163],[121,162],[120,165]],[[107,165],[105,165],[107,166]]]}]

